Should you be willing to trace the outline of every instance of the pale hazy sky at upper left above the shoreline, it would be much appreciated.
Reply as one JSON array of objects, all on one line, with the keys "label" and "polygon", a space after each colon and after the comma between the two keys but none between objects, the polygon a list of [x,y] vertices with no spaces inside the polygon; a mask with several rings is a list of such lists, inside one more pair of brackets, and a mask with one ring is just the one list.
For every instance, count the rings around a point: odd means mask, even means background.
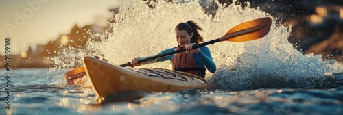
[{"label": "pale hazy sky at upper left above the shoreline", "polygon": [[111,8],[119,8],[118,1],[0,0],[0,55],[5,55],[5,38],[11,38],[11,55],[17,55],[69,34],[75,24],[106,22]]}]

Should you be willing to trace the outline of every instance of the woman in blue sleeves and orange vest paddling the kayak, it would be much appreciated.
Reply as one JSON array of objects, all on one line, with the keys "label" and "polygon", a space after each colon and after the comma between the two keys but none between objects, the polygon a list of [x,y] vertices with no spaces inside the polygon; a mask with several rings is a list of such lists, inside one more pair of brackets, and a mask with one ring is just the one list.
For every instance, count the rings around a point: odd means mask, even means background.
[{"label": "woman in blue sleeves and orange vest paddling the kayak", "polygon": [[204,46],[196,49],[191,49],[194,44],[200,44],[201,42],[204,42],[204,38],[200,36],[198,30],[202,31],[202,28],[193,21],[187,21],[187,23],[179,23],[175,27],[178,47],[165,49],[164,51],[161,51],[161,53],[158,53],[158,55],[182,48],[185,48],[186,52],[168,55],[156,60],[142,62],[140,64],[137,64],[138,61],[144,59],[144,57],[137,57],[131,61],[131,65],[139,66],[141,64],[150,64],[154,62],[163,62],[166,60],[170,60],[172,67],[171,69],[174,71],[183,71],[191,73],[193,75],[198,75],[203,78],[206,74],[206,68],[211,73],[214,73],[217,68],[215,66],[215,62],[212,59],[211,51],[209,50],[209,48]]}]

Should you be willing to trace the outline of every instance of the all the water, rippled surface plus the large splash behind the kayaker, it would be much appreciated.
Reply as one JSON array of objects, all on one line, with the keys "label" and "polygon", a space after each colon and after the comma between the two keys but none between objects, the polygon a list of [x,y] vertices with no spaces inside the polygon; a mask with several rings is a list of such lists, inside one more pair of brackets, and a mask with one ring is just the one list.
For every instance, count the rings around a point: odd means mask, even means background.
[{"label": "all the water, rippled surface plus the large splash behind the kayaker", "polygon": [[[197,1],[165,3],[151,10],[143,1],[119,1],[121,13],[111,24],[113,32],[92,34],[102,42],[88,41],[87,48],[65,49],[53,57],[55,68],[12,71],[11,110],[0,98],[1,114],[342,114],[343,65],[324,61],[320,55],[303,55],[287,41],[289,30],[276,26],[269,14],[252,8],[219,6],[217,15],[204,14]],[[172,13],[171,13],[172,12]],[[81,66],[85,55],[104,55],[122,64],[134,57],[155,55],[176,46],[174,27],[191,19],[204,30],[205,41],[220,38],[230,28],[255,18],[273,19],[270,33],[250,42],[219,42],[209,45],[217,64],[207,73],[211,90],[143,92],[131,102],[97,105],[90,83],[65,84],[62,75]],[[108,39],[105,39],[108,36]],[[69,57],[65,62],[65,57]],[[143,67],[169,68],[169,62]],[[3,73],[1,84],[5,84]],[[1,97],[5,94],[1,87]]]}]

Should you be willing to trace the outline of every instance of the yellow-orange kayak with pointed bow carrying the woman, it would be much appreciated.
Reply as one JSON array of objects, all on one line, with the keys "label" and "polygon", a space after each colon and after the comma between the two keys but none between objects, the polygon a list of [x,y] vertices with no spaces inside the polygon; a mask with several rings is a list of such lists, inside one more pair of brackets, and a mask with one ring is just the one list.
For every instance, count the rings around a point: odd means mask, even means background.
[{"label": "yellow-orange kayak with pointed bow carrying the woman", "polygon": [[179,92],[207,88],[205,79],[190,73],[163,68],[124,68],[95,57],[84,57],[83,62],[99,99],[126,91]]}]

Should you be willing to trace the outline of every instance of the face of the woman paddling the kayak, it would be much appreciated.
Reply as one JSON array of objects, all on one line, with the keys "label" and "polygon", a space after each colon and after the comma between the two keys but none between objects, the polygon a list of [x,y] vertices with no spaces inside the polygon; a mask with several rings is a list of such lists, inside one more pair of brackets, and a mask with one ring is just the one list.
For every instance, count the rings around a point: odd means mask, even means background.
[{"label": "face of the woman paddling the kayak", "polygon": [[191,38],[193,36],[193,33],[189,35],[186,30],[178,30],[176,29],[176,41],[178,41],[178,45],[180,47],[185,47],[185,44],[191,43]]}]

